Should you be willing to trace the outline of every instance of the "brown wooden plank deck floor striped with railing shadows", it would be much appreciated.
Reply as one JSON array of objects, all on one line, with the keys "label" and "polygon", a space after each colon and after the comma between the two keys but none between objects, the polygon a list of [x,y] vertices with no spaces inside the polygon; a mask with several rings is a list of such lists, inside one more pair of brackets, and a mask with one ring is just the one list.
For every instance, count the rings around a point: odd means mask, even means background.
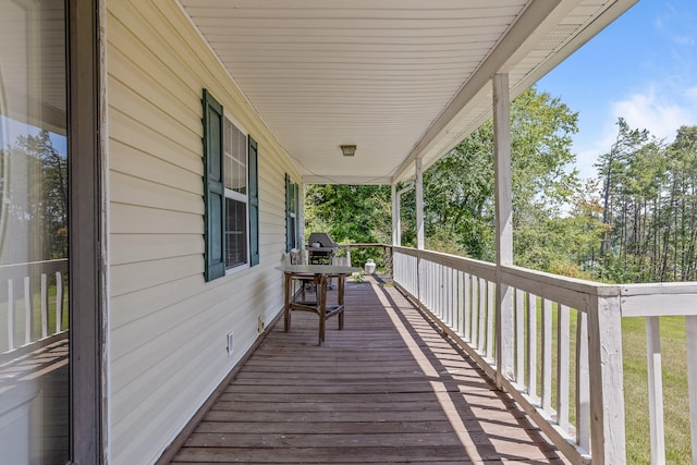
[{"label": "brown wooden plank deck floor striped with railing shadows", "polygon": [[171,463],[563,463],[394,287],[350,282],[344,330],[317,328],[278,322]]}]

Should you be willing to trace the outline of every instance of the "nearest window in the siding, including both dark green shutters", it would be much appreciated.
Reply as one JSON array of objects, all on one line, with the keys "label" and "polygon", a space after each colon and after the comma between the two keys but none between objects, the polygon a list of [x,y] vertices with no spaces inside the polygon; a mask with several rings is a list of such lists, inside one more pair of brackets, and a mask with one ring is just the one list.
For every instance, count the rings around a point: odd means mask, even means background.
[{"label": "nearest window in the siding, including both dark green shutters", "polygon": [[206,281],[259,262],[257,144],[204,89]]}]

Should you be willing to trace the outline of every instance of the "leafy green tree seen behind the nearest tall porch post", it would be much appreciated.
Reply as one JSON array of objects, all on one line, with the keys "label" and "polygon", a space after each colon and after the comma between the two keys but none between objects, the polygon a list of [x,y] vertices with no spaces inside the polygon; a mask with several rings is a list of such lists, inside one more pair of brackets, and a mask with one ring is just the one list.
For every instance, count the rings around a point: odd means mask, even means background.
[{"label": "leafy green tree seen behind the nearest tall porch post", "polygon": [[[571,134],[577,114],[535,88],[511,107],[515,260],[549,269],[567,261],[573,222],[559,220],[580,191]],[[425,232],[429,248],[492,261],[494,244],[493,126],[480,126],[424,174]],[[578,240],[578,243],[582,241]],[[580,246],[580,245],[579,245]]]}]

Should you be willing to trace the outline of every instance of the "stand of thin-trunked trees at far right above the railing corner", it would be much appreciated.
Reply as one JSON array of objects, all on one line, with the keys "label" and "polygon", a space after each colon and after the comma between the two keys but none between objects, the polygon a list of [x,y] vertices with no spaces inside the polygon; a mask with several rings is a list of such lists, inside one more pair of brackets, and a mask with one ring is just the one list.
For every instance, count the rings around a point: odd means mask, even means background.
[{"label": "stand of thin-trunked trees at far right above the railing corner", "polygon": [[603,181],[599,278],[615,282],[697,279],[697,126],[665,145],[620,119],[597,164]]}]

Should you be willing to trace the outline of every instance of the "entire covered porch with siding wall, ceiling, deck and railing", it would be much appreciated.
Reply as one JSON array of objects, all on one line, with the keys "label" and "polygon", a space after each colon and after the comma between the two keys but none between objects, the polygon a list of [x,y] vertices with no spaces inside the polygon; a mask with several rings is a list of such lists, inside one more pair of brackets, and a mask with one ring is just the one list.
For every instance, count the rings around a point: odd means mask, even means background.
[{"label": "entire covered porch with siding wall, ceiling, deck and railing", "polygon": [[[513,265],[510,102],[635,2],[4,2],[0,133],[65,136],[70,244],[29,253],[36,157],[12,152],[7,171],[3,146],[0,236],[22,248],[0,269],[0,432],[21,436],[0,435],[3,460],[37,462],[34,442],[60,436],[46,449],[74,464],[622,464],[621,321],[640,317],[663,463],[659,317],[674,316],[697,463],[697,284]],[[423,174],[490,119],[496,262],[427,250]],[[265,330],[279,266],[306,242],[308,184],[389,185],[394,215],[392,285],[352,289],[321,347],[313,315]],[[400,242],[405,185],[416,248]],[[63,390],[60,435],[28,433],[52,421],[30,405],[42,377]]]}]

